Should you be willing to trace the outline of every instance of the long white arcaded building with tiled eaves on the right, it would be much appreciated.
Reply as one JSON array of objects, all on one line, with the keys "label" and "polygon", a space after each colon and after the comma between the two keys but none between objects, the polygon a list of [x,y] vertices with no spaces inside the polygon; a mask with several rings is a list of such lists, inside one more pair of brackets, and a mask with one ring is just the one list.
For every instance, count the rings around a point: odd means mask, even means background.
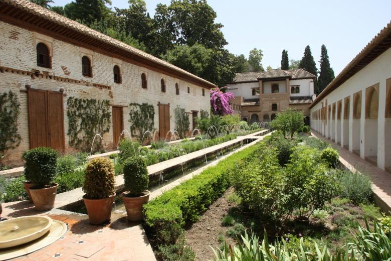
[{"label": "long white arcaded building with tiled eaves on the right", "polygon": [[391,173],[391,23],[309,106],[311,128]]}]

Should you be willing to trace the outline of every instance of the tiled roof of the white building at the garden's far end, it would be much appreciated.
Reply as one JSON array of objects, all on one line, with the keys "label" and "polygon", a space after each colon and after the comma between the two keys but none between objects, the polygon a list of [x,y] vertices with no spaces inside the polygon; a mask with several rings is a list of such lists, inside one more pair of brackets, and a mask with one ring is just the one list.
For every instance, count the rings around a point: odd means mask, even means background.
[{"label": "tiled roof of the white building at the garden's far end", "polygon": [[273,79],[273,78],[290,78],[294,79],[309,79],[316,76],[303,69],[273,69],[266,72],[242,72],[237,73],[233,80],[234,83],[240,82],[257,82],[259,79]]}]

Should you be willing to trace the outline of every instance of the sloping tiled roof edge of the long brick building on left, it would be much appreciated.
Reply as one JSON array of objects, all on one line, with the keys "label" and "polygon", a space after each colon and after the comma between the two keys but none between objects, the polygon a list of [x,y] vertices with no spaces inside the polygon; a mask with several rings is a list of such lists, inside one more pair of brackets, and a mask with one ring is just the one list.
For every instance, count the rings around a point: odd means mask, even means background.
[{"label": "sloping tiled roof edge of the long brick building on left", "polygon": [[211,87],[216,86],[215,84],[213,84],[213,83],[211,83],[201,77],[193,75],[193,74],[191,74],[191,73],[189,73],[179,67],[176,67],[176,66],[174,66],[166,61],[163,61],[157,57],[154,57],[153,55],[147,54],[141,50],[138,50],[137,48],[134,48],[134,47],[127,45],[121,41],[118,41],[116,39],[113,39],[107,35],[104,35],[98,31],[95,31],[87,26],[79,24],[76,21],[73,21],[71,19],[63,17],[55,12],[52,12],[46,8],[43,8],[41,6],[38,6],[30,1],[27,1],[27,0],[0,0],[0,2],[3,2],[5,4],[11,5],[11,6],[16,7],[18,9],[24,10],[28,13],[39,16],[43,20],[47,20],[47,21],[56,23],[58,25],[67,27],[69,29],[75,30],[79,33],[82,33],[82,34],[88,36],[88,37],[94,38],[98,41],[101,41],[101,42],[104,42],[104,43],[111,45],[113,47],[119,48],[123,51],[129,52],[129,53],[136,55],[138,57],[142,57],[143,59],[152,61],[152,62],[157,63],[159,65],[162,65],[164,67],[173,69],[181,74],[184,74],[186,76],[190,76],[194,79],[197,79],[198,81],[204,82],[205,84],[210,85]]}]

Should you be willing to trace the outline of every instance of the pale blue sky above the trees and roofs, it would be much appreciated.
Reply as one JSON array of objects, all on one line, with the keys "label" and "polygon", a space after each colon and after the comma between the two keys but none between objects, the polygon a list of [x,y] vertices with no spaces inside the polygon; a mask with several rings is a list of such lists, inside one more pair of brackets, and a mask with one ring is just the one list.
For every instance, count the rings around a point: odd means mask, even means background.
[{"label": "pale blue sky above the trees and roofs", "polygon": [[[64,6],[70,0],[54,0]],[[153,17],[158,3],[146,0]],[[319,69],[320,47],[326,45],[335,76],[391,20],[390,0],[256,1],[208,0],[217,13],[217,22],[234,54],[246,57],[251,49],[263,51],[262,64],[280,66],[281,52],[299,60],[306,45]],[[127,1],[112,0],[112,7],[127,8]]]}]

